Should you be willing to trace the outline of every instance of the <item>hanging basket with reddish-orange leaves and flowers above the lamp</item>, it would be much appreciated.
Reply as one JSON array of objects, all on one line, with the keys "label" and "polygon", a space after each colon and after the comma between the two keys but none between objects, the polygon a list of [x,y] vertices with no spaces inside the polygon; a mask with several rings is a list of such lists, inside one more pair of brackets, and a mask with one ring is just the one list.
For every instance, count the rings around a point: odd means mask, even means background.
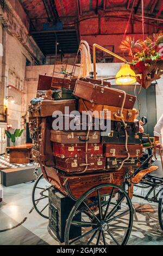
[{"label": "hanging basket with reddish-orange leaves and flowers above the lamp", "polygon": [[136,74],[142,75],[142,78],[137,77],[137,82],[144,88],[148,88],[152,81],[160,79],[163,74],[163,58],[158,49],[161,43],[163,34],[153,34],[144,41],[135,41],[127,36],[120,45],[121,51],[128,52],[132,58],[130,67]]}]

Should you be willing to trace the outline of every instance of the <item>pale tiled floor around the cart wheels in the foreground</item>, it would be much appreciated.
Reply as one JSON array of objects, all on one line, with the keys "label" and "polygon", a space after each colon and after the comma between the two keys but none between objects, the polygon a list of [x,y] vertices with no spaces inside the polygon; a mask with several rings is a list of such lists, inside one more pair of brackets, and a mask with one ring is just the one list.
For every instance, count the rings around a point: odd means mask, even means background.
[{"label": "pale tiled floor around the cart wheels in the foreground", "polygon": [[[156,165],[160,165],[158,160]],[[157,175],[163,177],[161,167]],[[34,183],[3,187],[0,203],[0,245],[59,245],[48,228],[48,220],[33,210]],[[136,190],[136,188],[135,188]],[[136,193],[143,193],[141,189]],[[140,199],[133,198],[133,203]],[[141,200],[141,203],[147,203]],[[163,245],[163,231],[158,222],[158,205],[152,204],[155,213],[134,213],[133,230],[128,245]]]}]

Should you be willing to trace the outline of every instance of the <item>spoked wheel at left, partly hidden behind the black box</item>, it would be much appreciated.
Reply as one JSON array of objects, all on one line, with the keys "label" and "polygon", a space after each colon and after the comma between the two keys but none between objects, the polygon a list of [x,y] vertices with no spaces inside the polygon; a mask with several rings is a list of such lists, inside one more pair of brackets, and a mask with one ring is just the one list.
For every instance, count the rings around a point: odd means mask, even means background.
[{"label": "spoked wheel at left, partly hidden behind the black box", "polygon": [[43,174],[37,178],[33,191],[32,191],[32,201],[34,209],[43,218],[48,219],[48,191],[52,186],[43,178]]}]

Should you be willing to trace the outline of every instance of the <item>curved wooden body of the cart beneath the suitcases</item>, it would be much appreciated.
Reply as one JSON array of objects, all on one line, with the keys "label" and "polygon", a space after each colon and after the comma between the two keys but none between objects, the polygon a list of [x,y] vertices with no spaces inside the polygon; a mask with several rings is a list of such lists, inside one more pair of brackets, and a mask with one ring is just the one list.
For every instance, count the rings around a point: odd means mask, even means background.
[{"label": "curved wooden body of the cart beneath the suitcases", "polygon": [[[114,183],[121,186],[126,174],[126,167],[118,171],[92,172],[80,176],[66,176],[59,173],[61,188],[65,193],[70,191],[74,199],[79,199],[89,189],[104,183]],[[112,187],[105,187],[100,190],[103,195],[110,194]],[[115,190],[116,192],[116,190]],[[97,197],[97,192],[92,193],[89,197]]]}]

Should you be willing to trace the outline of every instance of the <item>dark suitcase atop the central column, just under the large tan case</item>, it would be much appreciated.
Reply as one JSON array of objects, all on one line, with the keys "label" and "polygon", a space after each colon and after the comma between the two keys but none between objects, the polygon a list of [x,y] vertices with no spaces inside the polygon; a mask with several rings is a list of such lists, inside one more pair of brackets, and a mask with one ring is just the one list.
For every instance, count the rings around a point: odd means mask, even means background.
[{"label": "dark suitcase atop the central column, just under the large tan case", "polygon": [[99,130],[99,120],[97,118],[92,118],[89,115],[58,115],[56,118],[53,118],[53,129],[60,126],[62,130]]}]

